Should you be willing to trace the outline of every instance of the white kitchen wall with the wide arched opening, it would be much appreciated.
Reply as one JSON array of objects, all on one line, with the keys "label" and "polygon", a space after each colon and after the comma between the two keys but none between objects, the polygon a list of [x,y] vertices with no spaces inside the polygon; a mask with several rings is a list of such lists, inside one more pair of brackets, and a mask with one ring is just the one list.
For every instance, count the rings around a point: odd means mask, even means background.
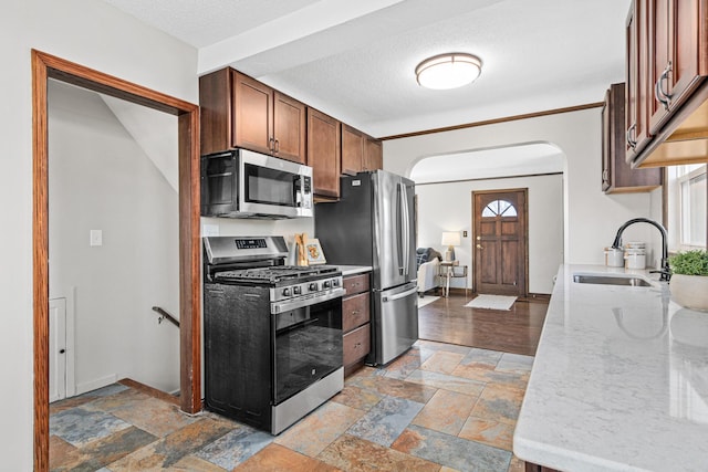
[{"label": "white kitchen wall with the wide arched opening", "polygon": [[[602,97],[597,97],[602,99]],[[617,228],[636,217],[649,217],[648,193],[606,196],[601,189],[600,108],[519,119],[384,141],[384,167],[404,176],[420,159],[434,155],[531,143],[558,146],[564,171],[565,262],[602,264],[603,248]],[[649,241],[652,227],[634,225],[629,239]]]}]

